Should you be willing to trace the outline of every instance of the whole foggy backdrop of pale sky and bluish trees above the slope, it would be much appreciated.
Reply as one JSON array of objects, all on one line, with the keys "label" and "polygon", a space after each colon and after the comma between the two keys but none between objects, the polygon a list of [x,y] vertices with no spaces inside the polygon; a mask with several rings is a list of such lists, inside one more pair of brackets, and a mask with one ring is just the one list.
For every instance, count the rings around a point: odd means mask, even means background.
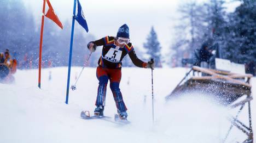
[{"label": "whole foggy backdrop of pale sky and bluish trees above the slope", "polygon": [[[50,2],[63,30],[45,17],[43,67],[67,66],[73,1]],[[190,58],[206,41],[212,45],[218,43],[224,59],[241,64],[256,59],[254,1],[80,0],[80,3],[89,33],[75,22],[73,66],[83,66],[89,41],[115,36],[124,23],[130,27],[131,42],[138,57],[145,61],[151,57],[159,59],[156,65],[159,67],[182,66],[181,59]],[[38,67],[42,5],[43,1],[37,0],[0,2],[0,52],[8,48],[20,69]],[[100,53],[98,47],[89,66],[97,66]],[[133,66],[129,57],[124,58],[123,65]]]}]

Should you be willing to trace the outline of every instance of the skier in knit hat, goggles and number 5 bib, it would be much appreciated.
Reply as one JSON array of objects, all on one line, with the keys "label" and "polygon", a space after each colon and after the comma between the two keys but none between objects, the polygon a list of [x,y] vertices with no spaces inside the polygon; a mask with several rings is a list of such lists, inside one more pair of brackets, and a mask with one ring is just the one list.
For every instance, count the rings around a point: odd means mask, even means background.
[{"label": "skier in knit hat, goggles and number 5 bib", "polygon": [[138,59],[132,43],[130,42],[129,27],[126,24],[119,28],[116,37],[106,36],[100,40],[91,41],[88,43],[88,49],[91,52],[94,52],[97,46],[103,46],[103,48],[101,57],[98,60],[96,72],[99,84],[94,114],[96,116],[103,116],[106,89],[109,80],[110,89],[112,90],[114,96],[119,117],[120,119],[126,119],[127,108],[119,89],[119,84],[121,81],[121,61],[127,54],[129,54],[132,63],[136,66],[152,69],[154,68],[154,61],[148,61],[148,63],[145,63]]}]

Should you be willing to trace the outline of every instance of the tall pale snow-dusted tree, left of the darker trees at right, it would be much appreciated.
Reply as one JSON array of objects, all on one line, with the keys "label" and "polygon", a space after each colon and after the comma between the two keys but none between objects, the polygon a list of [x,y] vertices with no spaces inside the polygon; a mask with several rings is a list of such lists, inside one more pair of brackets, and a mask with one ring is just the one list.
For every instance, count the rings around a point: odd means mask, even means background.
[{"label": "tall pale snow-dusted tree, left of the darker trees at right", "polygon": [[182,58],[190,58],[196,48],[200,48],[206,40],[207,9],[196,1],[190,1],[179,5],[181,17],[178,19],[178,26],[171,45],[172,64],[181,66]]}]

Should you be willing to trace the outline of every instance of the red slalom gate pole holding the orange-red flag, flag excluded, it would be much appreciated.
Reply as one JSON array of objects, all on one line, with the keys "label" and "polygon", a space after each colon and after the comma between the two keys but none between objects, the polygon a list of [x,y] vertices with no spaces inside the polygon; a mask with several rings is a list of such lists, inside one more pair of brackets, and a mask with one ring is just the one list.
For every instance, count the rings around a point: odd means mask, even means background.
[{"label": "red slalom gate pole holding the orange-red flag, flag excluded", "polygon": [[42,65],[42,45],[43,45],[43,32],[44,32],[44,13],[45,13],[45,0],[43,3],[42,24],[40,32],[40,45],[39,45],[39,63],[38,63],[38,88],[41,88],[41,65]]}]

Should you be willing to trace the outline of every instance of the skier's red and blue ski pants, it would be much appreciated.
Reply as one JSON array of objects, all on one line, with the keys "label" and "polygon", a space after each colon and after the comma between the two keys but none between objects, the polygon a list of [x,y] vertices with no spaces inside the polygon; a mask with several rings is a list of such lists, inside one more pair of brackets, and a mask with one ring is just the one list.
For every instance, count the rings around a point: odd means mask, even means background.
[{"label": "skier's red and blue ski pants", "polygon": [[108,80],[110,81],[110,89],[112,90],[115,105],[117,106],[118,112],[126,111],[127,108],[123,101],[123,96],[119,89],[119,83],[121,81],[121,69],[107,69],[101,66],[97,67],[97,78],[98,83],[98,94],[95,105],[105,105],[106,91]]}]

